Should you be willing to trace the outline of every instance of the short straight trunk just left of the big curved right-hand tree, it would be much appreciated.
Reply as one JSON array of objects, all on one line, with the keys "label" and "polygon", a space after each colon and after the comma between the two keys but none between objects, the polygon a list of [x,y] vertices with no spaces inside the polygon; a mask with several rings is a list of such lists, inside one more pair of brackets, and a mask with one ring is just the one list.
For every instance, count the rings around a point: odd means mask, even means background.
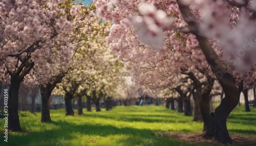
[{"label": "short straight trunk just left of the big curved right-hand tree", "polygon": [[198,92],[192,91],[194,99],[194,118],[193,121],[202,121],[203,117],[200,111],[200,95]]}]

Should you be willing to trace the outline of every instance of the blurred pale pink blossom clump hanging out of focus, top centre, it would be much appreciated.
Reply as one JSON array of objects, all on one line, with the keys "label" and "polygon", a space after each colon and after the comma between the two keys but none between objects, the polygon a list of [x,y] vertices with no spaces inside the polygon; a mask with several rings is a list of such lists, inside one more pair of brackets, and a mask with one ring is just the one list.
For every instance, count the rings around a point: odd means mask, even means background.
[{"label": "blurred pale pink blossom clump hanging out of focus, top centre", "polygon": [[167,17],[163,10],[157,10],[151,4],[140,3],[138,10],[141,15],[135,16],[132,22],[138,30],[139,40],[153,48],[161,48],[164,40],[162,27],[170,25],[174,19]]}]

